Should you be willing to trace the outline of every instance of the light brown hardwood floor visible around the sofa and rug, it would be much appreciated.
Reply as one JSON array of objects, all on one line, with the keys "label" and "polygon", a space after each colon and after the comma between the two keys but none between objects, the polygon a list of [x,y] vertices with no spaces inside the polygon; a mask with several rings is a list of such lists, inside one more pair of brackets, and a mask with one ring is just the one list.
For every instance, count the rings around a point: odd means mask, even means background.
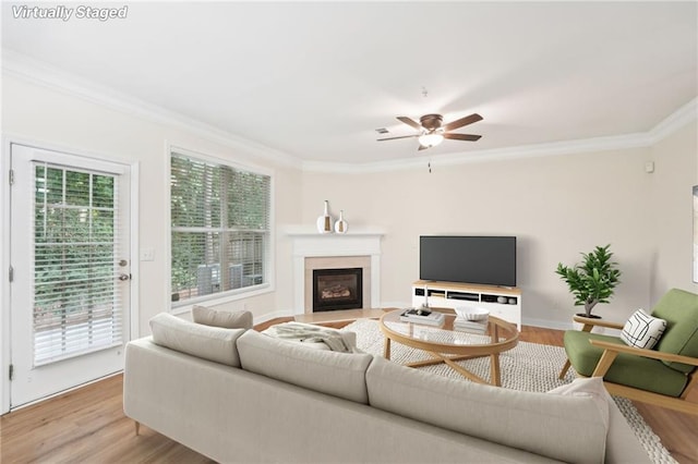
[{"label": "light brown hardwood floor visible around the sofa and rug", "polygon": [[[288,319],[260,325],[264,328]],[[346,321],[332,323],[342,327]],[[524,327],[521,341],[562,345],[562,331]],[[0,418],[1,463],[210,463],[123,415],[118,375]],[[637,403],[676,461],[698,463],[698,417]]]}]

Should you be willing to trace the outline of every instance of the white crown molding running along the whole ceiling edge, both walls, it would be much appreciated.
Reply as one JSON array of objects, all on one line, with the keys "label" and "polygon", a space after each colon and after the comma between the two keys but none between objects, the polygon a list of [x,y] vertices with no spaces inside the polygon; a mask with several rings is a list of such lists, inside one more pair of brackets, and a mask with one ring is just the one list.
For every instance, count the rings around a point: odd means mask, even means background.
[{"label": "white crown molding running along the whole ceiling edge, both walls", "polygon": [[421,156],[368,163],[318,162],[302,161],[291,155],[263,144],[237,136],[209,124],[188,118],[181,113],[147,103],[141,99],[95,84],[94,82],[8,49],[2,49],[2,71],[8,75],[19,77],[23,81],[28,81],[33,84],[68,95],[77,96],[87,101],[107,106],[130,115],[192,132],[224,146],[242,149],[245,152],[258,156],[276,164],[300,169],[303,172],[345,174],[394,172],[398,170],[424,169],[429,162],[437,166],[455,166],[493,160],[649,147],[666,138],[688,123],[695,122],[698,117],[698,99],[694,98],[654,127],[643,133],[494,148],[489,150],[462,151],[437,157]]}]

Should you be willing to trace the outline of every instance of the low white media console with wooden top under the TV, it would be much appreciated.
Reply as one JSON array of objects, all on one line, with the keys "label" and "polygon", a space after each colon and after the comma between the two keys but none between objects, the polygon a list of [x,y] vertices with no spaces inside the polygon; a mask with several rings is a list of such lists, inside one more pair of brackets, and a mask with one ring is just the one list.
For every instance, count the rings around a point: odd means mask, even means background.
[{"label": "low white media console with wooden top under the TV", "polygon": [[488,309],[521,330],[521,291],[518,288],[418,280],[412,284],[412,306],[434,308],[473,306]]}]

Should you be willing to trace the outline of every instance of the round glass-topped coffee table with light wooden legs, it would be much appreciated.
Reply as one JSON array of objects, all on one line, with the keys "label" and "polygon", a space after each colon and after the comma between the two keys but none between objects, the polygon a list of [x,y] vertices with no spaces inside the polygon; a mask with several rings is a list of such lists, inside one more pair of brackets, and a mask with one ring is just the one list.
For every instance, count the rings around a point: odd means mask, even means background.
[{"label": "round glass-topped coffee table with light wooden legs", "polygon": [[[446,322],[443,327],[434,327],[421,323],[405,322],[400,320],[402,309],[386,313],[381,317],[381,331],[385,334],[386,359],[390,358],[390,343],[393,341],[428,352],[432,358],[409,363],[407,366],[420,367],[445,363],[464,377],[480,383],[502,386],[500,373],[500,353],[512,350],[519,341],[519,331],[516,325],[497,317],[488,319],[489,337],[482,334],[454,330],[455,315],[446,314]],[[469,371],[456,364],[457,361],[474,357],[490,356],[490,381]]]}]

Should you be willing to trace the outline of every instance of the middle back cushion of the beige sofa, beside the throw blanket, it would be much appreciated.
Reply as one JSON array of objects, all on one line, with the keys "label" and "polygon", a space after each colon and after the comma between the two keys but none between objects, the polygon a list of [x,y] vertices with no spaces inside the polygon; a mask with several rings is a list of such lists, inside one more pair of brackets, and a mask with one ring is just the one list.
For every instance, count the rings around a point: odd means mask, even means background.
[{"label": "middle back cushion of the beige sofa, beside the throw blanket", "polygon": [[309,350],[249,330],[238,339],[242,368],[321,393],[368,404],[370,354]]}]

